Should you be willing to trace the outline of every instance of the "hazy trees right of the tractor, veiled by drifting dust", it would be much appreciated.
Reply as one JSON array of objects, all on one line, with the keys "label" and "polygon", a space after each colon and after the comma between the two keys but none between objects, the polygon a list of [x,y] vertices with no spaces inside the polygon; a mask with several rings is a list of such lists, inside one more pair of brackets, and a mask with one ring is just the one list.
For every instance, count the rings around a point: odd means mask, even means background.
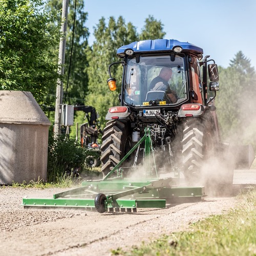
[{"label": "hazy trees right of the tractor, veiled by drifting dust", "polygon": [[250,60],[240,51],[227,69],[220,67],[219,73],[220,91],[216,105],[223,139],[237,144],[251,142],[256,146],[253,136],[256,128],[256,74]]}]

